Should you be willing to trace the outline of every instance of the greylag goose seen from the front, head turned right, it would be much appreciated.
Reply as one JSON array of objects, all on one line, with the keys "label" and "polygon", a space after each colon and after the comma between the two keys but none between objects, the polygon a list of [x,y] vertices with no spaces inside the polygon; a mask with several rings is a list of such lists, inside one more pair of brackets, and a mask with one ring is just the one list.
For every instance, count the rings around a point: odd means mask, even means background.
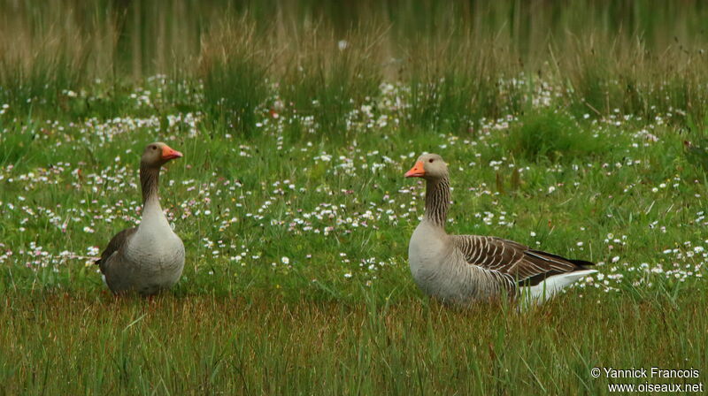
[{"label": "greylag goose seen from the front, head turned right", "polygon": [[173,286],[184,268],[184,245],[160,207],[160,167],[181,157],[165,143],[150,143],[142,152],[140,225],[117,233],[96,261],[113,293],[135,291],[143,295]]}]

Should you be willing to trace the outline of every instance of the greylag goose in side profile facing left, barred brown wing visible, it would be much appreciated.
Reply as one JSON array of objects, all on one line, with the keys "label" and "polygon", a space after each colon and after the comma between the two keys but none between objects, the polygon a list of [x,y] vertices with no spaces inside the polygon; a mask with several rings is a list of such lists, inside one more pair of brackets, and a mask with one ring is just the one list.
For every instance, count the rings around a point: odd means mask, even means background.
[{"label": "greylag goose in side profile facing left, barred brown wing visible", "polygon": [[442,301],[467,305],[508,295],[540,302],[596,270],[512,240],[448,235],[448,166],[441,156],[419,156],[406,178],[426,179],[425,217],[411,236],[408,262],[419,288]]}]

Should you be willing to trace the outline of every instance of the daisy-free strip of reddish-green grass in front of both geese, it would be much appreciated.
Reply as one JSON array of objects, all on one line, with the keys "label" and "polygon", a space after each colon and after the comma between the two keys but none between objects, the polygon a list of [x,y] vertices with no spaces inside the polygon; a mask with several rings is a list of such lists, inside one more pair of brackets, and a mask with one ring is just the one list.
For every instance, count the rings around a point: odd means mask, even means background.
[{"label": "daisy-free strip of reddish-green grass in front of both geese", "polygon": [[[526,316],[419,299],[16,297],[3,301],[0,336],[8,394],[596,394],[607,383],[589,376],[596,366],[705,360],[705,293],[602,310],[566,295]],[[612,329],[587,325],[608,320]]]}]

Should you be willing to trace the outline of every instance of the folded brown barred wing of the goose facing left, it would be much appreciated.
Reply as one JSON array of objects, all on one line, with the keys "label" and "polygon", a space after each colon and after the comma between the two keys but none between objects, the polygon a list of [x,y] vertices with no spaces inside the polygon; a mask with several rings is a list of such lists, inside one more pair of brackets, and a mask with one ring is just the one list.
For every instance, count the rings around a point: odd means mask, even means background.
[{"label": "folded brown barred wing of the goose facing left", "polygon": [[467,263],[510,275],[519,285],[537,285],[552,275],[587,270],[586,266],[594,265],[531,249],[513,240],[481,235],[454,235],[452,238]]}]

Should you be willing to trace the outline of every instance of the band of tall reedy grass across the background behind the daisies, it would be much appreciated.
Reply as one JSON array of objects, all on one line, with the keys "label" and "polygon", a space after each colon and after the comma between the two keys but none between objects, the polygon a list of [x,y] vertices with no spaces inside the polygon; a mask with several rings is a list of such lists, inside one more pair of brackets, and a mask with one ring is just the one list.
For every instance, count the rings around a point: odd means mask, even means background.
[{"label": "band of tall reedy grass across the background behind the daisies", "polygon": [[330,134],[383,80],[411,88],[409,126],[458,131],[523,110],[529,86],[515,79],[558,84],[576,116],[619,109],[703,123],[708,100],[700,1],[64,0],[0,9],[0,100],[23,113],[85,117],[67,111],[64,90],[156,73],[203,80],[209,117],[242,133],[272,105],[273,84]]}]

